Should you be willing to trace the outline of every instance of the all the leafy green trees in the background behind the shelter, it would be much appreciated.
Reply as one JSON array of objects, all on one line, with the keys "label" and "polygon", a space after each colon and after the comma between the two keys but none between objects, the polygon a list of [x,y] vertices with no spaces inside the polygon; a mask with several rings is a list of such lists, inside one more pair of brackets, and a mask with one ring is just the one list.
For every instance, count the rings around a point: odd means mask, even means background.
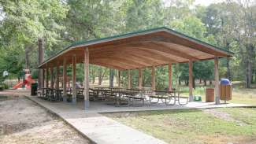
[{"label": "all the leafy green trees in the background behind the shelter", "polygon": [[[251,87],[256,83],[255,21],[255,0],[210,6],[195,5],[194,0],[0,0],[0,72],[18,77],[23,68],[35,68],[38,39],[44,40],[46,58],[77,40],[166,26],[234,52],[232,59],[221,59],[221,77]],[[78,65],[77,79],[83,79],[82,70]],[[91,80],[117,74],[95,65],[90,70]],[[187,82],[187,64],[173,65],[173,71],[173,83]],[[159,89],[167,87],[167,72],[165,66],[157,68]],[[138,72],[132,74],[135,86]],[[143,75],[144,85],[150,84],[150,69],[145,68]],[[213,79],[213,61],[195,62],[193,75]]]}]

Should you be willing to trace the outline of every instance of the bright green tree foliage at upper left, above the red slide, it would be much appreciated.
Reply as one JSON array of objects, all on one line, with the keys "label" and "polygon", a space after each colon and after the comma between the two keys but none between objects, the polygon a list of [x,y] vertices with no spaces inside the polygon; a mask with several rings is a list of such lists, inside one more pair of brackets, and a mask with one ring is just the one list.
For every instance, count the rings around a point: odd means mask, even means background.
[{"label": "bright green tree foliage at upper left, above the red slide", "polygon": [[60,24],[65,18],[68,6],[58,0],[28,0],[28,1],[0,1],[4,15],[1,21],[1,49],[11,47],[20,51],[20,60],[25,56],[23,68],[38,65],[37,59],[29,60],[37,53],[38,38],[46,39],[46,54],[53,50],[52,46],[58,42],[64,27]]}]

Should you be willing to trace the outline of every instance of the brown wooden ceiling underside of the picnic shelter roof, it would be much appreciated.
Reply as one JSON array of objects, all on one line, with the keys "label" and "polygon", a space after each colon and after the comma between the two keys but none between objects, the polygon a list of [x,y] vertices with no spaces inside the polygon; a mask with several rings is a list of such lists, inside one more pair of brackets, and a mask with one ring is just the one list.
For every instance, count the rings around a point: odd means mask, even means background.
[{"label": "brown wooden ceiling underside of the picnic shelter roof", "polygon": [[165,31],[158,31],[150,35],[72,47],[71,50],[48,61],[42,67],[62,65],[64,58],[68,64],[71,64],[74,55],[76,55],[76,62],[81,63],[84,59],[85,47],[89,49],[90,64],[120,70],[208,60],[215,56],[228,57],[219,50],[170,35]]}]

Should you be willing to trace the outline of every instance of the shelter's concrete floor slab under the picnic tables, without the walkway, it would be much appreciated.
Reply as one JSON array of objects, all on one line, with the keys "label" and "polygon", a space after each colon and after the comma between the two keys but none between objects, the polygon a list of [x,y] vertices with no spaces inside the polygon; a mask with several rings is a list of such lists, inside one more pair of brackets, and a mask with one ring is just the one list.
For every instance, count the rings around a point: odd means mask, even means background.
[{"label": "shelter's concrete floor slab under the picnic tables, without the walkway", "polygon": [[43,99],[36,97],[29,97],[40,102],[43,105],[47,105],[50,109],[58,113],[75,113],[77,110],[83,111],[83,113],[115,113],[115,112],[133,112],[133,111],[145,111],[145,110],[165,110],[165,109],[210,109],[210,108],[224,108],[224,107],[243,107],[252,106],[246,104],[234,104],[227,103],[221,105],[215,105],[214,102],[188,102],[187,105],[165,105],[165,104],[154,104],[154,105],[143,105],[143,106],[121,106],[116,107],[109,105],[108,102],[90,102],[90,109],[84,111],[83,100],[76,103],[76,105],[67,102],[48,102]]}]

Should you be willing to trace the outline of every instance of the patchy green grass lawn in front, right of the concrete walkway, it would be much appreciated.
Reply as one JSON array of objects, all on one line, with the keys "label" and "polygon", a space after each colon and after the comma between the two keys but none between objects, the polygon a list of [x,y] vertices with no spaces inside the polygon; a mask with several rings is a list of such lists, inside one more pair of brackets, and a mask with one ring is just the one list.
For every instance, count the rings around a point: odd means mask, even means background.
[{"label": "patchy green grass lawn in front, right of the concrete walkway", "polygon": [[106,114],[168,143],[256,143],[255,108]]}]

